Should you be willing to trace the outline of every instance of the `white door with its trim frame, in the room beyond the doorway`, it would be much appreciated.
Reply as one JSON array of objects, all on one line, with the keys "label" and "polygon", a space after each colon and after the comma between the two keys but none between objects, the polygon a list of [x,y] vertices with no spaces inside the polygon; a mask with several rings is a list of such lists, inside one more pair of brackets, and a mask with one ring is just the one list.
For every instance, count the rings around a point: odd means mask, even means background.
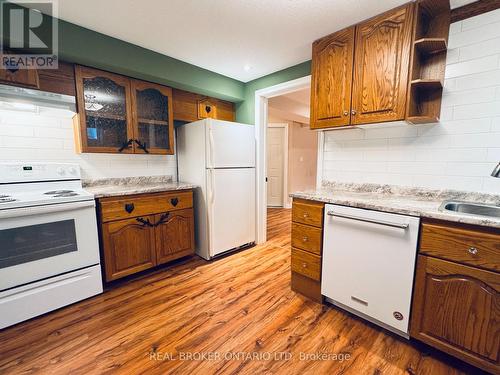
[{"label": "white door with its trim frame, in the room beyond the doorway", "polygon": [[269,123],[267,127],[267,206],[287,206],[288,124]]}]

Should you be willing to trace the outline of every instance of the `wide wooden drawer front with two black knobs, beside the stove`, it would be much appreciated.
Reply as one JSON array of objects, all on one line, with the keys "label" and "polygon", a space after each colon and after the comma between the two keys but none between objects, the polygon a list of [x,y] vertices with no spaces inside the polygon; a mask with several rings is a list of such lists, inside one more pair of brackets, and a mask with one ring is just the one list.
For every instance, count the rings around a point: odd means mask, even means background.
[{"label": "wide wooden drawer front with two black knobs, beside the stove", "polygon": [[99,200],[102,222],[151,215],[193,206],[193,193],[169,192],[130,195]]}]

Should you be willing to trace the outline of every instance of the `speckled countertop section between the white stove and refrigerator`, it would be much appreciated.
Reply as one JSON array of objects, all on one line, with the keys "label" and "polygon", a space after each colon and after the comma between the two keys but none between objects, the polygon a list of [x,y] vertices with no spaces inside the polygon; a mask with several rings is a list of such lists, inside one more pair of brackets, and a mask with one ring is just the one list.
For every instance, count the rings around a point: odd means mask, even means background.
[{"label": "speckled countertop section between the white stove and refrigerator", "polygon": [[83,187],[94,194],[95,198],[105,198],[194,189],[196,186],[187,182],[175,182],[171,176],[152,176],[84,180]]}]

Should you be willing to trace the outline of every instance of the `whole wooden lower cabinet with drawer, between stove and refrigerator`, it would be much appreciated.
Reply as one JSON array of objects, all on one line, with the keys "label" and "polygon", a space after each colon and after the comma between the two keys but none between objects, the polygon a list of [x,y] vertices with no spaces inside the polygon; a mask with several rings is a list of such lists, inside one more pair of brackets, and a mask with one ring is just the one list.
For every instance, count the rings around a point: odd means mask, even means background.
[{"label": "whole wooden lower cabinet with drawer, between stove and refrigerator", "polygon": [[[156,206],[149,205],[152,198],[158,200]],[[160,203],[171,201],[175,205],[162,211],[165,204]],[[117,205],[123,208],[123,213],[109,215],[110,207]],[[98,207],[105,280],[108,282],[194,254],[191,191],[103,198]],[[144,212],[146,207],[150,207],[150,212]],[[123,217],[134,213],[134,217]]]}]

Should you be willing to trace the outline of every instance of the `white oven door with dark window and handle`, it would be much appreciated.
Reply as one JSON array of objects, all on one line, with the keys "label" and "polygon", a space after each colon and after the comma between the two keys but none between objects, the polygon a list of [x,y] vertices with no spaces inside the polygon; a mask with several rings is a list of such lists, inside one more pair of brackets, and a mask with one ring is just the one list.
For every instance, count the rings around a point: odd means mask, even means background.
[{"label": "white oven door with dark window and handle", "polygon": [[93,200],[0,211],[0,291],[95,264]]}]

